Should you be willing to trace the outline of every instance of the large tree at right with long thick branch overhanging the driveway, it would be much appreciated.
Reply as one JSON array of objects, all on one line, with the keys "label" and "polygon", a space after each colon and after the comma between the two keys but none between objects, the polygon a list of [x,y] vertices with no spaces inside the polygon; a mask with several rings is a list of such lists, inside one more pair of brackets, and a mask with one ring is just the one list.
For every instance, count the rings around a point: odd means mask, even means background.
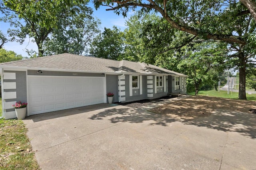
[{"label": "large tree at right with long thick branch overhanging the driveway", "polygon": [[[186,32],[204,40],[219,40],[238,49],[237,57],[240,73],[239,99],[246,99],[245,75],[246,60],[244,52],[255,49],[255,21],[246,12],[247,8],[238,0],[191,0],[191,1],[158,1],[158,0],[94,0],[95,7],[106,5],[117,14],[126,13],[129,9],[141,7],[142,12],[155,11],[170,24],[170,27]],[[114,6],[116,5],[116,6]],[[165,34],[162,35],[164,38]],[[250,51],[252,52],[252,50]],[[253,56],[248,55],[248,56]]]}]

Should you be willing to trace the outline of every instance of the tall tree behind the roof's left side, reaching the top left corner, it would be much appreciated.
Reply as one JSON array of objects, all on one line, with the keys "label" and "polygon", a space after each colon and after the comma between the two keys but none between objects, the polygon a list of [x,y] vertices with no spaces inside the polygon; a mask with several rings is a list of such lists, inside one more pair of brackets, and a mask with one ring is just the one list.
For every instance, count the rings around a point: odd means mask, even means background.
[{"label": "tall tree behind the roof's left side, reaching the top left corner", "polygon": [[16,28],[8,30],[12,36],[11,40],[18,38],[18,42],[23,43],[27,35],[34,38],[38,46],[38,56],[42,57],[44,53],[42,45],[48,35],[57,28],[59,22],[72,20],[75,15],[86,15],[87,2],[86,0],[4,0],[0,4],[0,10],[5,14],[3,20],[10,22],[10,25]]}]

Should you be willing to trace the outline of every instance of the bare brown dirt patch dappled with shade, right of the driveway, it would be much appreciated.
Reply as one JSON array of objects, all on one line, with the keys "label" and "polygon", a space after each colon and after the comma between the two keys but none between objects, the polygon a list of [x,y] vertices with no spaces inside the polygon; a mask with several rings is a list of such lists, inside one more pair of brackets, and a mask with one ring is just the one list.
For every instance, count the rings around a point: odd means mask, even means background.
[{"label": "bare brown dirt patch dappled with shade, right of the driveway", "polygon": [[194,119],[208,117],[214,114],[217,109],[252,113],[250,110],[256,109],[256,102],[208,96],[190,96],[148,111],[179,119]]}]

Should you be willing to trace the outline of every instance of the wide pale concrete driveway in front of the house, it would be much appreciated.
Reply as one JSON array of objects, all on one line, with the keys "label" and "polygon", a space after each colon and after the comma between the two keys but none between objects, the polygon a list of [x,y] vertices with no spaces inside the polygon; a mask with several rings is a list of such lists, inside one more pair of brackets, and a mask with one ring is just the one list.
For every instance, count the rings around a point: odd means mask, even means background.
[{"label": "wide pale concrete driveway in front of the house", "polygon": [[147,109],[100,104],[24,123],[43,170],[256,169],[256,114],[179,121]]}]

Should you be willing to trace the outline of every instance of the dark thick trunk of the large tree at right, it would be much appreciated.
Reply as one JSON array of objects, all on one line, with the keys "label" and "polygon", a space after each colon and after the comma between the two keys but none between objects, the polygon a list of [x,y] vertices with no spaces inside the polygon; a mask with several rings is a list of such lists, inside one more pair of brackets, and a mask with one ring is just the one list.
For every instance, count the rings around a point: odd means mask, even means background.
[{"label": "dark thick trunk of the large tree at right", "polygon": [[239,93],[238,99],[246,99],[245,79],[246,79],[246,61],[243,52],[239,52]]}]

